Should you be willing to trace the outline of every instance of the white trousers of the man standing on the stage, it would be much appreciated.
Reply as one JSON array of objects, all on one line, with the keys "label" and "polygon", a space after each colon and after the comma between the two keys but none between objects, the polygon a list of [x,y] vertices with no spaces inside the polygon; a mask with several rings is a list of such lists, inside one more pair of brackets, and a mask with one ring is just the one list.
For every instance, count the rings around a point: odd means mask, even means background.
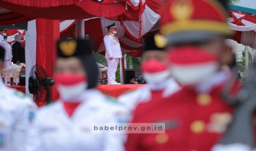
[{"label": "white trousers of the man standing on the stage", "polygon": [[116,81],[116,71],[119,58],[113,58],[107,60],[107,83],[115,82]]}]

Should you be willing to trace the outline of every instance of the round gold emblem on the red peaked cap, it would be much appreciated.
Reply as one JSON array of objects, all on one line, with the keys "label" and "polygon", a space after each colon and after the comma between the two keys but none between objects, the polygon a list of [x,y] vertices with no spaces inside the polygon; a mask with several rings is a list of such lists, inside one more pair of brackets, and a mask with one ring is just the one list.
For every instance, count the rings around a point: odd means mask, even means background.
[{"label": "round gold emblem on the red peaked cap", "polygon": [[170,13],[176,20],[187,20],[193,14],[193,6],[190,0],[178,0],[170,8]]}]

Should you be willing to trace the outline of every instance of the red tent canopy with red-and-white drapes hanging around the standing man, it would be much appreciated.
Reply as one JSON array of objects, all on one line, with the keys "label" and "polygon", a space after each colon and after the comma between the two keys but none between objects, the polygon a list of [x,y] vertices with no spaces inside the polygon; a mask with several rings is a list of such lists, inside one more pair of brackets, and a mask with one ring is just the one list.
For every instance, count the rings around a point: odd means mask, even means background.
[{"label": "red tent canopy with red-and-white drapes hanging around the standing man", "polygon": [[[99,43],[95,45],[97,52],[104,51],[102,39],[106,34],[106,24],[116,21],[122,28],[121,44],[123,53],[139,56],[142,50],[141,37],[148,32],[159,30],[157,24],[164,10],[165,0],[1,0],[0,25],[16,24],[36,18],[63,20],[66,31],[72,26],[74,20],[70,19],[95,19],[96,23],[89,21],[85,26],[99,26],[99,35],[92,35]],[[69,30],[69,32],[74,32]],[[87,31],[87,30],[86,30]],[[88,32],[93,32],[88,31]],[[67,32],[66,32],[67,33]],[[120,32],[119,32],[120,33]],[[71,34],[69,36],[72,36]]]}]

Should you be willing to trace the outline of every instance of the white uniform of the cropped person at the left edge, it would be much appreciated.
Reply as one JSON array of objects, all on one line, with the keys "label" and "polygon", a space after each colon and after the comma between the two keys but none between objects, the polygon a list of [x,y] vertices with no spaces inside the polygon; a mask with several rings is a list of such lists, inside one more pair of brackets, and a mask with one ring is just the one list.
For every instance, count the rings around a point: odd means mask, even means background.
[{"label": "white uniform of the cropped person at the left edge", "polygon": [[24,151],[36,104],[0,82],[0,151]]}]

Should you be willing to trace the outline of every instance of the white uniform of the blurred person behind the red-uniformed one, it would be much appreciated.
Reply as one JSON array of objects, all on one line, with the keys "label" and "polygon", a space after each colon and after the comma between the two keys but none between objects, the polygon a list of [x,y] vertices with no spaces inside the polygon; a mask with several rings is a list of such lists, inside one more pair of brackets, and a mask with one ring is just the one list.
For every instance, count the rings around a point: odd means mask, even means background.
[{"label": "white uniform of the blurred person behind the red-uniformed one", "polygon": [[[179,91],[181,87],[173,79],[167,79],[162,86],[164,91],[162,92],[162,97],[168,97],[175,92]],[[126,106],[126,109],[129,113],[132,113],[139,103],[149,101],[151,98],[151,90],[154,90],[152,85],[144,86],[127,94],[121,95],[117,98],[118,102],[121,102]]]}]

